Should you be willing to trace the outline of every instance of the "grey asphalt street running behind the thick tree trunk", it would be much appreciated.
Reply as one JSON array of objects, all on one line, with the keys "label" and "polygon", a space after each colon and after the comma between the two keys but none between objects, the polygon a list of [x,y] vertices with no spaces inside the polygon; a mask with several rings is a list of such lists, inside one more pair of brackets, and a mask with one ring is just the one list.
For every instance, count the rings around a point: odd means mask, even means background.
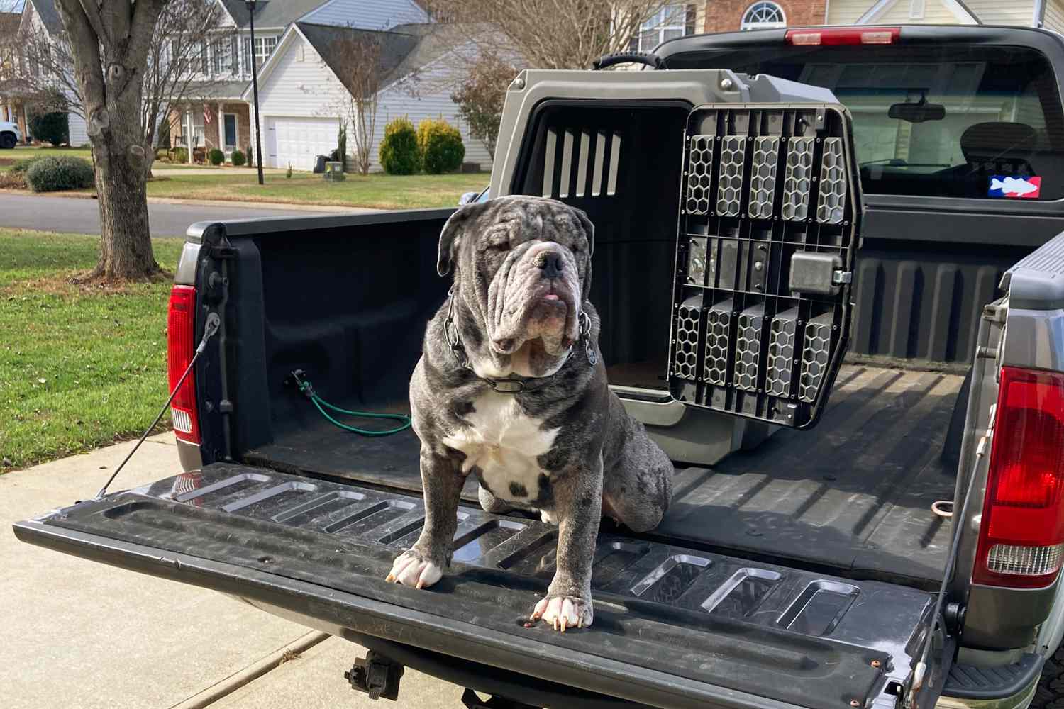
[{"label": "grey asphalt street running behind the thick tree trunk", "polygon": [[[346,212],[337,207],[336,212]],[[322,212],[250,206],[148,204],[152,236],[184,236],[189,224],[204,220],[251,217],[310,217]],[[99,234],[99,205],[93,199],[0,193],[0,227],[43,232]]]}]

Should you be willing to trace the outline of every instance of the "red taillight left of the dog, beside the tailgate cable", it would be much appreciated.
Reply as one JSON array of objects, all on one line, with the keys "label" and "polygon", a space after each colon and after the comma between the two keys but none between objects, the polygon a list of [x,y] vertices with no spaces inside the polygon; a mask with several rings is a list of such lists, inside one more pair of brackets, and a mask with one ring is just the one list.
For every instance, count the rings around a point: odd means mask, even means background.
[{"label": "red taillight left of the dog, beside the tailgate cable", "polygon": [[[196,353],[196,289],[173,286],[166,316],[167,372],[170,391],[188,368]],[[200,442],[199,416],[196,412],[196,373],[188,372],[181,390],[170,403],[173,433],[181,440]]]}]

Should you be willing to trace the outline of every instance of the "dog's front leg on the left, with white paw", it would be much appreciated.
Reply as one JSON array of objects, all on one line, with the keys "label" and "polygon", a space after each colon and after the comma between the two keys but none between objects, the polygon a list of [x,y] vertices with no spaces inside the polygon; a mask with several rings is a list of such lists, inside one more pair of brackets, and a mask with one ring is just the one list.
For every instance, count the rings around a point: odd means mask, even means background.
[{"label": "dog's front leg on the left, with white paw", "polygon": [[461,465],[449,456],[421,445],[421,487],[425,489],[425,526],[414,546],[392,564],[387,581],[425,588],[444,575],[451,563],[451,545],[458,528],[462,494]]}]

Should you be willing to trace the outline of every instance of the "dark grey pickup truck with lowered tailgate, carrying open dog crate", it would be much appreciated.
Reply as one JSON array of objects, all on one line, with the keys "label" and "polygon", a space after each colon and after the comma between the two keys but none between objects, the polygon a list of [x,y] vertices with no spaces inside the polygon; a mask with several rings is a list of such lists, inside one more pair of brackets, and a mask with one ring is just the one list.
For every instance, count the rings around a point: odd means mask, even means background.
[{"label": "dark grey pickup truck with lowered tailgate, carrying open dog crate", "polygon": [[16,535],[356,642],[375,698],[411,666],[493,696],[470,707],[1062,706],[1062,38],[809,28],[629,58],[658,70],[521,72],[491,179],[595,223],[611,386],[677,463],[658,528],[603,522],[594,626],[528,622],[556,530],[485,513],[475,480],[451,573],[386,584],[423,523],[418,441],[295,386],[409,410],[451,209],[189,227],[186,472]]}]

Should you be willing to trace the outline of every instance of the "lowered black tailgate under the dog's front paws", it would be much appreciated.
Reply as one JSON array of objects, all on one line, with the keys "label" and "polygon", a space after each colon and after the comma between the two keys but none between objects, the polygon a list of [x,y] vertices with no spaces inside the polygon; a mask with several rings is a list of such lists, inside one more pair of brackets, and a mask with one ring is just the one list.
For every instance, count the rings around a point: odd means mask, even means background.
[{"label": "lowered black tailgate under the dog's front paws", "polygon": [[[912,589],[603,534],[594,626],[564,635],[542,623],[525,628],[536,592],[553,573],[555,528],[471,507],[462,507],[460,518],[452,573],[421,591],[383,580],[398,551],[417,538],[419,499],[260,468],[216,463],[16,525],[16,533],[83,556],[89,554],[71,545],[93,544],[95,558],[110,563],[149,573],[159,570],[145,567],[165,565],[162,575],[476,660],[456,641],[431,646],[428,635],[404,631],[400,619],[414,614],[422,629],[465,626],[485,643],[504,639],[506,654],[480,659],[496,666],[535,675],[535,656],[575,654],[594,674],[612,674],[605,663],[625,668],[615,678],[627,674],[628,683],[659,692],[675,692],[678,681],[701,687],[684,696],[712,696],[719,706],[768,706],[755,696],[809,707],[863,705],[888,679],[905,677],[914,635],[930,611],[931,596]],[[103,554],[99,538],[154,550],[155,558],[147,562],[116,545]],[[182,564],[193,567],[185,577]],[[220,583],[221,576],[229,580]],[[302,591],[279,603],[256,596],[264,581],[275,590],[297,583]],[[307,597],[309,588],[316,600]],[[352,612],[352,598],[376,602],[383,619],[367,624]],[[327,612],[330,604],[336,607]],[[648,704],[671,702],[665,694],[633,694],[624,683],[563,679],[556,670],[537,676]],[[720,688],[735,693],[725,699],[729,693]]]}]

